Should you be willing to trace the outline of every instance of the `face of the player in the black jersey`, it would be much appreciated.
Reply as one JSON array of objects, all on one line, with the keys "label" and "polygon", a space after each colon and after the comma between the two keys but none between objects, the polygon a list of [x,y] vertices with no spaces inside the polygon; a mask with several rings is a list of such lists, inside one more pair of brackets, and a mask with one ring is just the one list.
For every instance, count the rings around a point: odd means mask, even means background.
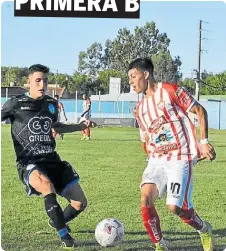
[{"label": "face of the player in the black jersey", "polygon": [[37,99],[45,95],[48,85],[48,73],[34,72],[28,76],[30,95]]}]

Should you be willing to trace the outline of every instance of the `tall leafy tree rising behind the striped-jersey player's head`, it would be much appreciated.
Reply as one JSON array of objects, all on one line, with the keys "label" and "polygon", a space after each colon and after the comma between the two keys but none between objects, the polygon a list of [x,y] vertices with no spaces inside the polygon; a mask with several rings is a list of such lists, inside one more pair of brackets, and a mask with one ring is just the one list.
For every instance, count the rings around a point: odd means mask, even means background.
[{"label": "tall leafy tree rising behind the striped-jersey player's head", "polygon": [[118,31],[115,39],[108,39],[105,45],[93,43],[85,52],[79,54],[80,73],[97,77],[101,71],[116,70],[122,78],[122,89],[128,91],[128,64],[138,57],[152,57],[158,81],[177,82],[181,78],[180,57],[172,58],[168,50],[170,39],[166,33],[160,33],[154,22],[136,27],[133,32],[127,28]]}]

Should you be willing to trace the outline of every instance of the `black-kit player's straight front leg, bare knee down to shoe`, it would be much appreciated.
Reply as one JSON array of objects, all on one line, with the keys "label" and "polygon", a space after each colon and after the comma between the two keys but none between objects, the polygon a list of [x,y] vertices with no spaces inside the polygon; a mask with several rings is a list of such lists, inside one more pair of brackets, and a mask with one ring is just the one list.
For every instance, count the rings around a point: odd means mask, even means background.
[{"label": "black-kit player's straight front leg, bare knee down to shoe", "polygon": [[74,240],[68,234],[64,220],[63,211],[57,202],[55,189],[50,179],[38,169],[32,171],[28,176],[28,183],[44,197],[45,210],[66,248],[74,247]]}]

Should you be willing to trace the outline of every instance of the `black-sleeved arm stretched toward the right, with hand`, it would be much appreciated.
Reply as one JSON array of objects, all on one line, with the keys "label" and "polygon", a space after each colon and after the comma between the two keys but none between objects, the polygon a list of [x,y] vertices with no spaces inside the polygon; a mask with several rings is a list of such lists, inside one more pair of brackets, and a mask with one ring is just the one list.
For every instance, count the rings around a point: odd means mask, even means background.
[{"label": "black-sleeved arm stretched toward the right, with hand", "polygon": [[76,132],[76,131],[83,131],[88,127],[96,127],[97,124],[90,120],[82,121],[79,124],[63,124],[61,122],[55,122],[52,124],[52,128],[57,133],[70,133],[70,132]]}]

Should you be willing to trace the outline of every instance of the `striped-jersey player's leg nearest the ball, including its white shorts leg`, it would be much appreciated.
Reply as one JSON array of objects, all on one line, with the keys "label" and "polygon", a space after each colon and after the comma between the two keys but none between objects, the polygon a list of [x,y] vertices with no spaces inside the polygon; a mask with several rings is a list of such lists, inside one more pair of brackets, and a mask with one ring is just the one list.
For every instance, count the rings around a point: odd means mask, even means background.
[{"label": "striped-jersey player's leg nearest the ball, including its white shorts leg", "polygon": [[156,250],[168,250],[162,237],[160,219],[155,208],[155,201],[161,197],[166,187],[166,174],[162,165],[150,160],[141,183],[141,212],[143,224],[156,245]]}]

